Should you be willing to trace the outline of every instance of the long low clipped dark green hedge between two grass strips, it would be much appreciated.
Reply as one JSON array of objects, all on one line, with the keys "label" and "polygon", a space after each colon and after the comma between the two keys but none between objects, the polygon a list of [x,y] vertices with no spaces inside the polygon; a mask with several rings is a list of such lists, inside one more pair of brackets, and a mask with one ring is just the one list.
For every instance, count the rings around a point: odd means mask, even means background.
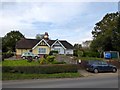
[{"label": "long low clipped dark green hedge between two grass strips", "polygon": [[77,72],[77,65],[3,66],[2,72],[25,74],[53,74]]}]

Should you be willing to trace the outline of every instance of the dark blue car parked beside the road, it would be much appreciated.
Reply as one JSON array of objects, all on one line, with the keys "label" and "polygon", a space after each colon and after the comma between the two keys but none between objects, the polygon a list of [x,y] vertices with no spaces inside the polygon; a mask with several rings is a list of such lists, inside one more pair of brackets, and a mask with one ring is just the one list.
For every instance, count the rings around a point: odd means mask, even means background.
[{"label": "dark blue car parked beside the road", "polygon": [[90,60],[87,62],[86,70],[94,73],[98,72],[116,72],[117,68],[114,65],[108,64],[106,61]]}]

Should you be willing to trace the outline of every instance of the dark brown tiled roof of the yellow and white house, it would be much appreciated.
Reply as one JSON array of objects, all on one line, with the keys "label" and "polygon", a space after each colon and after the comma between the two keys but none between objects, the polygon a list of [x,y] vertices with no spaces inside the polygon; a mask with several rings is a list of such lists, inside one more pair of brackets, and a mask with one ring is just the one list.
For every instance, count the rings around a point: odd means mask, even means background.
[{"label": "dark brown tiled roof of the yellow and white house", "polygon": [[[51,46],[56,40],[48,40],[47,43]],[[73,49],[73,46],[66,40],[59,40],[67,49]],[[40,40],[38,39],[21,39],[16,44],[16,49],[32,49]]]}]

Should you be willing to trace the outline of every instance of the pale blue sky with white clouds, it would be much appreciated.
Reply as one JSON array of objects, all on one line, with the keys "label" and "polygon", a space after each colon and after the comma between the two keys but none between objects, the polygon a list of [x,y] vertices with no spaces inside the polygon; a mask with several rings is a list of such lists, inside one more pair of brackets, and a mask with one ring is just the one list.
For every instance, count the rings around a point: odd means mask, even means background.
[{"label": "pale blue sky with white clouds", "polygon": [[0,36],[19,30],[26,38],[48,32],[71,44],[92,40],[92,30],[118,2],[0,2]]}]

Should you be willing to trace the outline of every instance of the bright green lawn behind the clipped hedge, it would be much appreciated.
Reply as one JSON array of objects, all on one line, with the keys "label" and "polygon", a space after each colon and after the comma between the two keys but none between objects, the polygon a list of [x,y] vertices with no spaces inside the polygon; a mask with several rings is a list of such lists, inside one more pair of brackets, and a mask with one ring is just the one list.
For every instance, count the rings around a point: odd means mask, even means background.
[{"label": "bright green lawn behind the clipped hedge", "polygon": [[3,66],[35,66],[40,65],[37,61],[28,62],[27,60],[4,60]]}]

